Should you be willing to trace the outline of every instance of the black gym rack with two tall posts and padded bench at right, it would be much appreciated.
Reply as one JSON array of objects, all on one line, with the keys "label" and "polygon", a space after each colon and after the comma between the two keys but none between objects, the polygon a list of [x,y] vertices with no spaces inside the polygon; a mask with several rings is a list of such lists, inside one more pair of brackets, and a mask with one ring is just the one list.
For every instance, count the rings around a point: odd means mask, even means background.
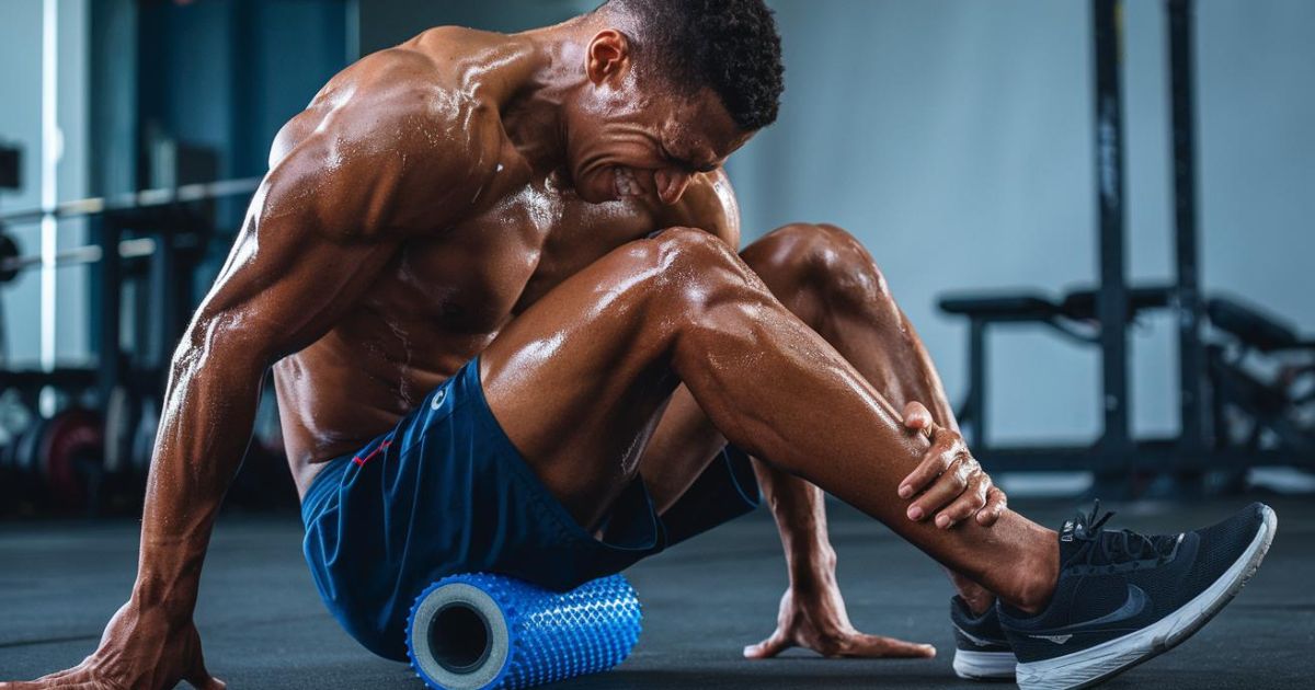
[{"label": "black gym rack with two tall posts and padded bench at right", "polygon": [[[1315,467],[1315,449],[1297,443],[1295,434],[1273,447],[1237,444],[1223,439],[1218,407],[1287,409],[1256,396],[1265,385],[1248,386],[1235,367],[1220,359],[1203,333],[1206,309],[1201,296],[1197,247],[1195,113],[1193,96],[1191,0],[1165,0],[1170,146],[1173,154],[1174,281],[1172,285],[1132,287],[1126,276],[1123,93],[1120,85],[1122,0],[1091,0],[1095,103],[1095,175],[1099,227],[1099,287],[1074,290],[1060,301],[1035,292],[945,296],[940,309],[969,321],[969,392],[960,422],[969,431],[973,455],[989,469],[1047,471],[1090,469],[1098,480],[1124,482],[1139,473],[1169,472],[1178,478],[1199,477],[1203,471],[1245,469],[1264,464]],[[1172,311],[1178,344],[1178,410],[1181,432],[1166,439],[1134,439],[1128,418],[1128,323],[1149,310]],[[1237,321],[1228,306],[1212,306],[1218,327],[1232,318],[1235,335],[1251,339],[1253,348],[1265,340],[1264,326],[1255,318]],[[1072,447],[995,447],[986,438],[986,333],[1001,323],[1044,323],[1070,340],[1101,348],[1101,436]],[[1257,330],[1260,329],[1260,330]],[[1257,340],[1260,338],[1260,340]],[[1269,339],[1282,340],[1270,334]],[[1276,342],[1277,342],[1276,340]],[[1235,363],[1233,363],[1235,364]],[[1252,381],[1256,382],[1256,381]],[[1248,402],[1245,398],[1251,397]],[[1233,400],[1236,398],[1236,401]],[[1240,402],[1241,405],[1235,405]],[[1277,407],[1276,407],[1277,405]],[[1116,486],[1106,485],[1109,493]]]}]

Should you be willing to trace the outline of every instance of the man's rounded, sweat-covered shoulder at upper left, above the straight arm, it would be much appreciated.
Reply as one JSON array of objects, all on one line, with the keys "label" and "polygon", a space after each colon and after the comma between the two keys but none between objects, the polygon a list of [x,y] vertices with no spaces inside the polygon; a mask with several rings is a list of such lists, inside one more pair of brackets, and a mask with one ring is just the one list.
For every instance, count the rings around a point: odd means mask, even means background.
[{"label": "man's rounded, sweat-covered shoulder at upper left, above the straight arm", "polygon": [[262,212],[309,212],[330,231],[442,226],[476,201],[500,151],[488,105],[446,84],[426,55],[385,50],[280,131]]}]

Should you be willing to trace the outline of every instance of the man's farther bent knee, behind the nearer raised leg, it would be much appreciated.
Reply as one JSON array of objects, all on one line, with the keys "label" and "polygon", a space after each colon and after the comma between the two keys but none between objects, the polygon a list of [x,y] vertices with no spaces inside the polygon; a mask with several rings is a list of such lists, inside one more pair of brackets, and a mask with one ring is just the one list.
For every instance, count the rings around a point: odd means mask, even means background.
[{"label": "man's farther bent knee, behind the nearer raised leg", "polygon": [[778,227],[744,250],[744,260],[781,300],[810,292],[827,304],[873,305],[890,300],[885,276],[868,250],[828,223]]}]

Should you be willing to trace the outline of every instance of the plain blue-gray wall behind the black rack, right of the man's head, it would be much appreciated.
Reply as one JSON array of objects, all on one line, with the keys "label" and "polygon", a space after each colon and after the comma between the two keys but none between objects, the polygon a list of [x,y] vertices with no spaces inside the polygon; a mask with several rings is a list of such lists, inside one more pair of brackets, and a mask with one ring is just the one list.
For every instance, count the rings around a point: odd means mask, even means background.
[{"label": "plain blue-gray wall behind the black rack, right of the man's head", "polygon": [[[769,0],[785,42],[781,118],[731,160],[747,237],[796,221],[857,234],[955,400],[967,327],[938,294],[1095,277],[1088,3]],[[1201,226],[1207,290],[1315,330],[1315,3],[1202,0]],[[1128,265],[1172,272],[1161,5],[1127,3]],[[1038,329],[993,340],[998,440],[1099,431],[1098,356]],[[1172,323],[1134,338],[1134,428],[1177,430]]]}]

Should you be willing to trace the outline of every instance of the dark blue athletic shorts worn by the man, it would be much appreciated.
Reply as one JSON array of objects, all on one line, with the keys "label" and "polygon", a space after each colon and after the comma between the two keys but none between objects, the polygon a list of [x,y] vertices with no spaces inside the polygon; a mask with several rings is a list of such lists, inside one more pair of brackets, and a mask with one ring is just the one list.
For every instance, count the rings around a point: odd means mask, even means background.
[{"label": "dark blue athletic shorts worn by the man", "polygon": [[326,463],[301,517],[329,611],[371,652],[404,661],[406,615],[435,580],[490,572],[567,590],[757,503],[748,457],[727,447],[661,517],[636,478],[594,538],[502,432],[475,359],[391,431]]}]

